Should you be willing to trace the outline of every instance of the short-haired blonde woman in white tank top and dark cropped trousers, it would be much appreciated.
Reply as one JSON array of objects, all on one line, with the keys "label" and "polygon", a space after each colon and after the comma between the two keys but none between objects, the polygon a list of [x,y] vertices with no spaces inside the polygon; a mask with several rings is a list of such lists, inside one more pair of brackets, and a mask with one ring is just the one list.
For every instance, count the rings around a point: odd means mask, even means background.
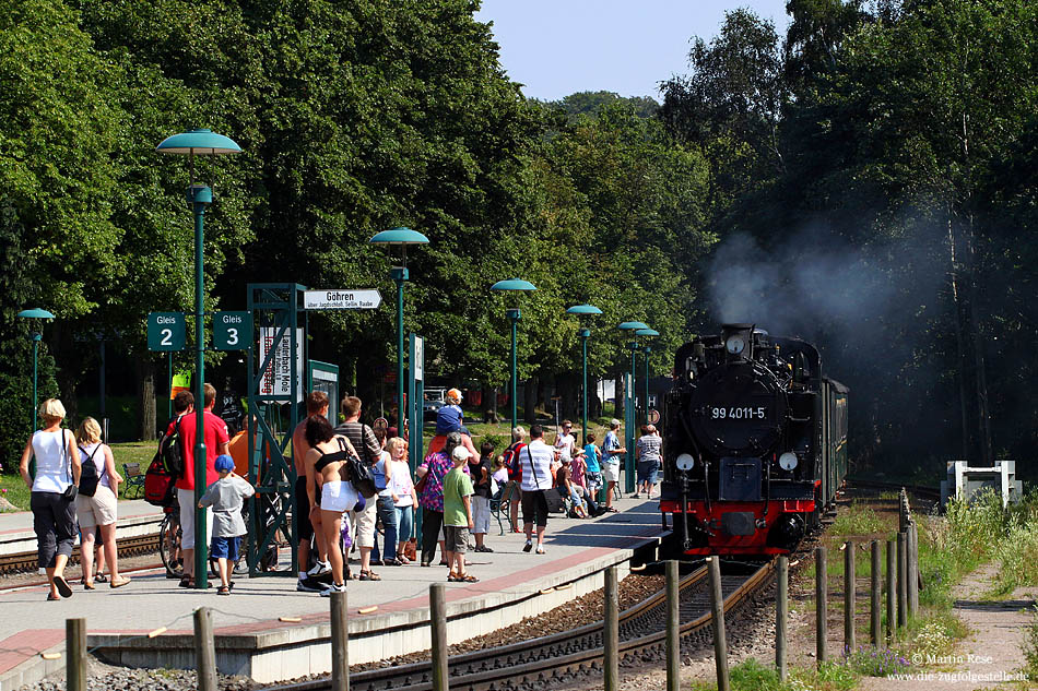
[{"label": "short-haired blonde woman in white tank top and dark cropped trousers", "polygon": [[[72,432],[62,429],[64,406],[57,398],[39,404],[44,428],[25,442],[19,469],[22,479],[33,490],[33,528],[39,550],[39,568],[47,570],[50,583],[49,600],[72,597],[72,588],[64,580],[64,565],[72,556],[75,543],[75,501],[64,491],[80,481],[80,453]],[[28,474],[28,461],[36,456],[36,477]]]}]

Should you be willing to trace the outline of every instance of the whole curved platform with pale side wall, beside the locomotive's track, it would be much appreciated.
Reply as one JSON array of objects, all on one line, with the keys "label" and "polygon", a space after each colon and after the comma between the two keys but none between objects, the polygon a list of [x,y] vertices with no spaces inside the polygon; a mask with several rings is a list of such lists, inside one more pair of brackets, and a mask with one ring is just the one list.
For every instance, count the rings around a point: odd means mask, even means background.
[{"label": "whole curved platform with pale side wall, beside the locomotive's track", "polygon": [[[616,507],[618,513],[597,520],[553,514],[543,556],[523,552],[522,535],[498,536],[492,526],[486,544],[495,551],[469,555],[469,572],[481,582],[447,584],[450,640],[494,631],[598,589],[605,569],[623,564],[636,549],[658,545],[662,531],[654,500],[621,500]],[[380,582],[349,583],[354,664],[428,648],[428,585],[447,576],[444,567],[416,563],[376,571]],[[86,619],[87,646],[106,662],[193,668],[191,615],[200,606],[214,608],[223,674],[272,682],[331,669],[327,598],[297,592],[294,577],[235,580],[231,597],[217,596],[214,588],[178,588],[158,570],[134,574],[133,583],[117,591],[74,586],[73,597],[56,603],[45,601],[45,587],[0,592],[0,688],[17,688],[61,668],[62,660],[47,663],[39,653],[63,651],[68,618]],[[358,612],[373,606],[374,612]],[[477,616],[486,610],[493,616]],[[146,638],[160,628],[167,630]]]}]

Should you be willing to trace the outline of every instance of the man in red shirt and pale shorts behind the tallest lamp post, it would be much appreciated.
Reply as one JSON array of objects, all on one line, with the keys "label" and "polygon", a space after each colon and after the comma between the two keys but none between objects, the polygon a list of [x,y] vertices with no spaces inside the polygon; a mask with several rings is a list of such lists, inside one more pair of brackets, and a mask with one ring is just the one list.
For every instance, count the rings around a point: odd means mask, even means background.
[{"label": "man in red shirt and pale shorts behind the tallest lamp post", "polygon": [[[216,456],[227,453],[231,437],[227,434],[227,424],[213,415],[213,404],[216,403],[216,390],[212,384],[203,386],[205,392],[205,409],[203,413],[205,427],[205,486],[215,482]],[[184,552],[184,577],[180,587],[194,586],[194,443],[197,416],[185,415],[180,419],[180,452],[184,454],[184,477],[177,480],[177,500],[180,502],[180,547]],[[213,529],[213,510],[205,510],[205,544],[208,545]]]}]

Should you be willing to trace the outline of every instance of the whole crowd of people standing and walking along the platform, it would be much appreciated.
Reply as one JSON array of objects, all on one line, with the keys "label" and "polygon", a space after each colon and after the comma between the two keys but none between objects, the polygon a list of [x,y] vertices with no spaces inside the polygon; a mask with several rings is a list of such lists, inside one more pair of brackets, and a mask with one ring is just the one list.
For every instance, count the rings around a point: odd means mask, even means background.
[{"label": "whole crowd of people standing and walking along the platform", "polygon": [[[177,436],[184,458],[184,472],[176,480],[184,564],[179,585],[196,585],[194,519],[199,509],[205,511],[205,539],[219,564],[217,593],[229,595],[234,586],[231,574],[247,533],[241,508],[256,490],[234,472],[226,422],[212,412],[215,398],[215,389],[204,384],[207,490],[199,502],[194,500],[197,416],[190,392],[175,396],[176,415],[167,434]],[[344,589],[351,579],[381,580],[373,567],[412,562],[447,567],[450,582],[477,582],[467,571],[465,553],[470,549],[494,551],[486,535],[495,500],[510,515],[511,529],[524,534],[522,550],[535,555],[545,553],[544,536],[553,507],[561,503],[578,519],[616,511],[614,489],[620,460],[627,452],[617,434],[620,420],[611,421],[601,448],[591,432],[583,446],[578,445],[573,424],[564,420],[551,445],[544,440],[544,428],[534,424],[529,433],[521,426],[512,429],[511,444],[499,454],[489,441],[476,452],[463,426],[460,403],[461,392],[450,390],[447,405],[437,413],[436,436],[412,477],[409,441],[393,429],[373,429],[362,422],[359,398],[342,400],[339,412],[343,421],[333,426],[328,396],[320,391],[309,393],[306,418],[292,434],[298,591],[330,595]],[[102,443],[101,428],[93,418],[84,418],[74,434],[62,428],[66,410],[60,401],[45,401],[39,413],[44,425],[27,441],[20,467],[32,488],[38,560],[50,583],[48,599],[72,595],[64,569],[78,533],[83,586],[94,589],[95,583],[104,582],[102,571],[107,564],[109,587],[121,587],[130,580],[118,570],[115,527],[122,478],[111,450]],[[639,493],[634,496],[644,492],[651,498],[661,440],[651,425],[641,431],[636,449]],[[35,477],[30,474],[32,457],[36,460]],[[414,534],[418,511],[420,536]],[[349,565],[351,551],[357,552],[356,574]]]}]

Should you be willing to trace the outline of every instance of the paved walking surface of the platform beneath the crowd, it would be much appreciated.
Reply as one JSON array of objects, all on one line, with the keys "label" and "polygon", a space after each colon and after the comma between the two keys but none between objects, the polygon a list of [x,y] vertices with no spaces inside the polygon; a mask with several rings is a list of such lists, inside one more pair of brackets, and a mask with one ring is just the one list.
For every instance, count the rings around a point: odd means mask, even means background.
[{"label": "paved walking surface of the platform beneath the crowd", "polygon": [[[126,504],[122,502],[120,509]],[[146,504],[145,504],[146,505]],[[523,552],[521,534],[497,535],[492,526],[486,544],[493,553],[470,552],[469,573],[481,579],[473,584],[448,584],[448,601],[477,599],[498,592],[536,592],[558,583],[553,575],[581,563],[601,559],[618,549],[630,549],[661,533],[656,500],[621,500],[618,513],[595,520],[565,519],[553,514],[545,537],[546,555]],[[149,507],[150,508],[150,507]],[[0,516],[9,521],[19,514]],[[24,521],[24,516],[21,519]],[[31,519],[30,519],[31,521]],[[9,524],[0,523],[0,531]],[[355,557],[356,555],[354,555]],[[354,572],[358,567],[353,565]],[[445,567],[380,567],[380,582],[349,582],[351,619],[357,610],[378,606],[377,617],[387,612],[427,607],[428,585],[446,581]],[[133,582],[119,589],[98,584],[97,591],[73,586],[73,596],[46,601],[46,587],[0,591],[0,679],[25,660],[48,647],[63,644],[64,622],[85,618],[89,635],[143,634],[166,628],[166,635],[190,633],[196,608],[214,608],[216,635],[240,635],[275,631],[328,618],[328,599],[316,593],[300,593],[294,577],[262,576],[235,579],[232,596],[209,591],[177,587],[161,570],[139,572]],[[280,618],[292,618],[284,622]]]}]

